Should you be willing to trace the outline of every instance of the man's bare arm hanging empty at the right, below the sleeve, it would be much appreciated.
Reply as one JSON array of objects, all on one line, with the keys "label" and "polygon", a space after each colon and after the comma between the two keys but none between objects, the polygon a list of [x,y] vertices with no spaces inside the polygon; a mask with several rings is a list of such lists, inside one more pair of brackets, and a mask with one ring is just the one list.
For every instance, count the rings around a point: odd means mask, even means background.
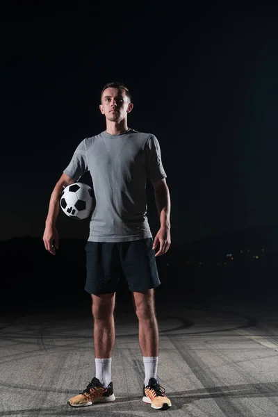
[{"label": "man's bare arm hanging empty at the right, below the sleeve", "polygon": [[154,238],[153,249],[156,250],[159,243],[159,250],[156,252],[156,256],[161,256],[167,252],[171,245],[170,193],[165,178],[152,182],[152,185],[154,186],[154,199],[156,202],[159,220],[161,222],[161,227]]}]

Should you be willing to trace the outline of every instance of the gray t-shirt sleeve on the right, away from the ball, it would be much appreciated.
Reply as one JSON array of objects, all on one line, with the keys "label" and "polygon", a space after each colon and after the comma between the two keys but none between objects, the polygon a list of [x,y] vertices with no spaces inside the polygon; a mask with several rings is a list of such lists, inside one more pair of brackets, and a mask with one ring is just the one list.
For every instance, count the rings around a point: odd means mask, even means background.
[{"label": "gray t-shirt sleeve on the right, away from the ball", "polygon": [[161,161],[161,147],[156,136],[151,135],[146,147],[147,177],[150,181],[158,181],[167,175]]}]

